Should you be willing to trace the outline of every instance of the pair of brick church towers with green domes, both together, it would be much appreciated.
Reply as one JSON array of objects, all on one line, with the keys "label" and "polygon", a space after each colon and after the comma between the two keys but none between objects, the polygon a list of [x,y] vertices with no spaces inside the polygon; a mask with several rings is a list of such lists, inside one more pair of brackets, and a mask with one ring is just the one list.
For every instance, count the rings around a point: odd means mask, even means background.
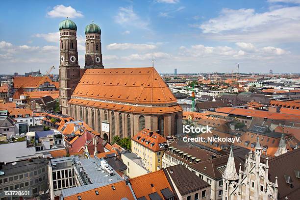
[{"label": "pair of brick church towers with green domes, both together", "polygon": [[[76,39],[77,26],[72,20],[59,24],[59,104],[62,114],[68,114],[68,100],[80,80]],[[85,69],[104,68],[101,53],[101,29],[94,22],[85,27]]]}]

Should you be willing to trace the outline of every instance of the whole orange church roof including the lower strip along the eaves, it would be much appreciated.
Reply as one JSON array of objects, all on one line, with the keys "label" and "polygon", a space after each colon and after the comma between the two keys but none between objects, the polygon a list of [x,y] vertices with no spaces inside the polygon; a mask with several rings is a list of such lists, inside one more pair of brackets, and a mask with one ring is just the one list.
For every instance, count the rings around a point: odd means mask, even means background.
[{"label": "whole orange church roof including the lower strip along the eaves", "polygon": [[[88,69],[69,103],[141,113],[172,113],[182,110],[152,67]],[[161,107],[136,106],[138,104]]]}]

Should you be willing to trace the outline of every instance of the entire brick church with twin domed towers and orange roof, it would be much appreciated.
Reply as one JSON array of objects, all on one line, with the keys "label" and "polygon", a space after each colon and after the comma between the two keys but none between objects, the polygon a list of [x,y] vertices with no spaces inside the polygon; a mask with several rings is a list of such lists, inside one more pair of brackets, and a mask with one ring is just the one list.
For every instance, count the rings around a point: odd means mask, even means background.
[{"label": "entire brick church with twin domed towers and orange roof", "polygon": [[131,138],[144,128],[158,130],[164,136],[180,133],[182,109],[153,67],[103,69],[101,30],[93,23],[85,28],[82,75],[77,59],[77,27],[67,19],[59,29],[64,45],[59,67],[63,114],[84,121],[108,141],[116,135]]}]

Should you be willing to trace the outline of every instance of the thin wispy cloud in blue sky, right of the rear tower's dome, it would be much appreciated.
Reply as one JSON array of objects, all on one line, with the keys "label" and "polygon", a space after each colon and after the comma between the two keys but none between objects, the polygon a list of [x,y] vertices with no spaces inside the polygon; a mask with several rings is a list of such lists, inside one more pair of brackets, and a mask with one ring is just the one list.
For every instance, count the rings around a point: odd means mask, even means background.
[{"label": "thin wispy cloud in blue sky, right of the rear tower's dome", "polygon": [[123,26],[135,26],[138,28],[148,29],[149,23],[143,21],[134,11],[133,7],[120,7],[115,22]]}]

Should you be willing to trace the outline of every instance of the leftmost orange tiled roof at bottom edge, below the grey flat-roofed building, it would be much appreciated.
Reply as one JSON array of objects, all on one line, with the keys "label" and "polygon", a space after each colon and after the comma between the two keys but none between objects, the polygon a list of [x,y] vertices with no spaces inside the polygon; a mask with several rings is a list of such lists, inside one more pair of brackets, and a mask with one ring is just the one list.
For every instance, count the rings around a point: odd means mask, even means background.
[{"label": "leftmost orange tiled roof at bottom edge, below the grey flat-roofed building", "polygon": [[[114,186],[115,189],[112,189],[112,186]],[[99,192],[99,195],[96,195],[96,191]],[[121,200],[124,197],[128,200],[134,200],[131,190],[125,181],[65,197],[64,200],[78,200],[78,196],[80,196],[82,200]]]}]

